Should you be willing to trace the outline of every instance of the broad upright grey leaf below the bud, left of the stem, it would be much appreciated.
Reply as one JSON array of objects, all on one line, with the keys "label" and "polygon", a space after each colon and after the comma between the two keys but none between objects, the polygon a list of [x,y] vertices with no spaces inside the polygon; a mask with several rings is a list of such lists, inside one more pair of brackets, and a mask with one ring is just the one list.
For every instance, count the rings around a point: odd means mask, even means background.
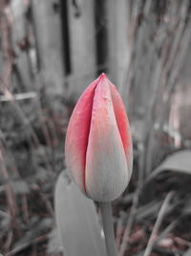
[{"label": "broad upright grey leaf below the bud, left of the stem", "polygon": [[105,256],[96,207],[63,173],[54,193],[55,219],[66,256]]}]

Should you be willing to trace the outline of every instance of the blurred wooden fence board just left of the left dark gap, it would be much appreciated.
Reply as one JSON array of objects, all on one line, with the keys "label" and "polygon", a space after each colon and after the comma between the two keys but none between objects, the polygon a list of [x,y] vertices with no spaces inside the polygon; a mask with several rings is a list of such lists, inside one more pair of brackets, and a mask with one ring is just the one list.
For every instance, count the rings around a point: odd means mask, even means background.
[{"label": "blurred wooden fence board just left of the left dark gap", "polygon": [[59,10],[53,0],[32,0],[33,22],[41,69],[48,93],[63,95],[64,67]]}]

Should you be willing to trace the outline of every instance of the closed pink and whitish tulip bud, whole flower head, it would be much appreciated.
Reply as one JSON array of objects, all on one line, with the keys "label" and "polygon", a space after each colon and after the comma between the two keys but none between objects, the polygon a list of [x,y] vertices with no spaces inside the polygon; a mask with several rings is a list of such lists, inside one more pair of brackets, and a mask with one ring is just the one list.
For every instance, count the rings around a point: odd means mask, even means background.
[{"label": "closed pink and whitish tulip bud, whole flower head", "polygon": [[102,74],[74,107],[66,135],[66,164],[79,189],[96,201],[116,199],[132,175],[132,138],[125,107]]}]

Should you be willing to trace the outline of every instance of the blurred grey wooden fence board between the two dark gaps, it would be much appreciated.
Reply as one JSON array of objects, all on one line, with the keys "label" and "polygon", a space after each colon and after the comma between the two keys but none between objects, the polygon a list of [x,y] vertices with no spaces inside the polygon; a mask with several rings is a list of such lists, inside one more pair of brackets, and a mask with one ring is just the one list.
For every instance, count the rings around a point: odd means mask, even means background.
[{"label": "blurred grey wooden fence board between the two dark gaps", "polygon": [[68,2],[72,73],[70,94],[78,96],[96,76],[96,33],[94,1]]}]

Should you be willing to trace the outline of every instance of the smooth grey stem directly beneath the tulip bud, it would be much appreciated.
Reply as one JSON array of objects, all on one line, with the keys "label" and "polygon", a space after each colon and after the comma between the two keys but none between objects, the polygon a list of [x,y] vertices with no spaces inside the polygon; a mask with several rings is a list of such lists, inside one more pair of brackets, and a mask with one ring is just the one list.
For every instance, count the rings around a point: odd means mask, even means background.
[{"label": "smooth grey stem directly beneath the tulip bud", "polygon": [[107,256],[117,256],[111,202],[100,202],[99,206],[105,234]]}]

